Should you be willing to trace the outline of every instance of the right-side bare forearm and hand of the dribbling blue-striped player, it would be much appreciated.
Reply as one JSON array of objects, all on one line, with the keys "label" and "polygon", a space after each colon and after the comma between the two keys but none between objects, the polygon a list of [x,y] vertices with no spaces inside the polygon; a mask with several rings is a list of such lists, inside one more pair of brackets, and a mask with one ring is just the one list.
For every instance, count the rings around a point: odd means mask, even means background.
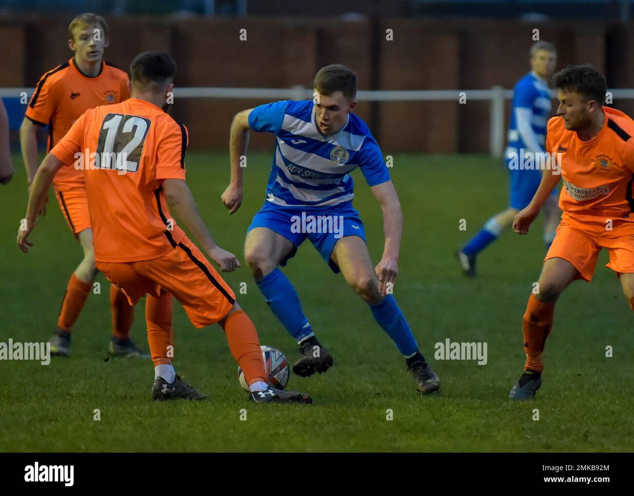
[{"label": "right-side bare forearm and hand of the dribbling blue-striped player", "polygon": [[378,277],[378,289],[381,295],[385,296],[389,288],[388,283],[393,285],[398,275],[398,254],[401,248],[401,236],[403,236],[403,212],[392,181],[382,182],[370,189],[383,211],[385,246],[383,257],[374,270]]}]

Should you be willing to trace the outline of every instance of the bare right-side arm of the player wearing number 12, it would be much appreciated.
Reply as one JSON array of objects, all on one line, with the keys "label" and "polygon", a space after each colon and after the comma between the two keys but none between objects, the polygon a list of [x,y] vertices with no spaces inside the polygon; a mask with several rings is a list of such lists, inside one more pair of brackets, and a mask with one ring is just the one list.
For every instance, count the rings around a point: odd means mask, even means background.
[{"label": "bare right-side arm of the player wearing number 12", "polygon": [[233,253],[216,245],[209,229],[200,218],[193,194],[183,179],[164,179],[163,191],[170,210],[176,213],[183,226],[191,232],[209,258],[216,262],[223,272],[231,272],[240,267],[240,262]]}]

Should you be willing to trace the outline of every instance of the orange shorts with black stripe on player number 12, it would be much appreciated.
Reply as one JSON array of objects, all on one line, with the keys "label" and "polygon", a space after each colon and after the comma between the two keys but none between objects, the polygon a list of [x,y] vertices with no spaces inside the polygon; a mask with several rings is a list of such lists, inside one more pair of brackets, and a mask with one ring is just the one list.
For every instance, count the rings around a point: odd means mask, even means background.
[{"label": "orange shorts with black stripe on player number 12", "polygon": [[131,305],[165,288],[183,305],[194,327],[221,321],[233,308],[235,293],[188,238],[159,258],[141,262],[96,262],[108,281],[121,288]]}]

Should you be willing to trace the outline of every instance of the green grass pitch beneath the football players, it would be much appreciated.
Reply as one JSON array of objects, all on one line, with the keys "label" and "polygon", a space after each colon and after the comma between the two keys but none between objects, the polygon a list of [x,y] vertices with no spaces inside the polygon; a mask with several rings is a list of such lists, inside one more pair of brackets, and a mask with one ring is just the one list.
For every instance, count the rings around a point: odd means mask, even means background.
[{"label": "green grass pitch beneath the football players", "polygon": [[[251,155],[245,201],[229,217],[219,196],[228,180],[224,154],[188,155],[188,181],[218,243],[243,260],[252,215],[264,200],[270,155]],[[0,188],[1,341],[46,341],[68,277],[81,258],[51,194],[49,213],[23,255],[15,235],[27,191],[22,160]],[[481,156],[394,157],[392,178],[405,227],[395,296],[422,352],[441,376],[441,394],[420,397],[386,334],[342,277],[306,243],[287,269],[320,340],[335,357],[327,374],[292,376],[313,405],[252,405],[238,386],[223,331],[195,330],[175,308],[177,371],[209,395],[200,403],[150,401],[148,361],[104,361],[110,334],[108,285],[91,295],[77,322],[68,359],[0,362],[0,451],[631,451],[634,448],[634,315],[602,253],[592,284],[574,283],[557,304],[545,353],[544,384],[533,402],[510,402],[521,373],[521,317],[540,273],[541,220],[529,236],[505,234],[465,279],[453,258],[484,220],[507,205],[503,165]],[[365,222],[373,261],[383,246],[382,217],[363,177],[354,205]],[[467,232],[458,229],[467,220]],[[297,345],[271,314],[245,267],[226,279],[247,282],[240,304],[261,342],[290,361]],[[143,305],[133,338],[147,348]],[[486,341],[488,364],[434,360],[434,343]],[[605,347],[614,357],[605,357]],[[101,420],[93,420],[100,409]],[[240,410],[247,409],[247,421]],[[392,409],[394,419],[386,420]],[[540,420],[533,421],[533,409]]]}]

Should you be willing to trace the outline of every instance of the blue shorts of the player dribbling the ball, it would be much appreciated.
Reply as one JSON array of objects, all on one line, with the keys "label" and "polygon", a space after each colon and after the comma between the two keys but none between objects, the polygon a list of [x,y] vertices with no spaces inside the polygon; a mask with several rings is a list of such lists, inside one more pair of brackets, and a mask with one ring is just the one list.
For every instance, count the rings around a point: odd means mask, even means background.
[{"label": "blue shorts of the player dribbling the ball", "polygon": [[265,201],[247,232],[256,227],[271,229],[293,243],[293,250],[280,262],[282,267],[308,238],[335,274],[339,267],[330,259],[335,243],[345,236],[359,236],[365,241],[363,222],[350,202],[335,207],[280,207]]}]

